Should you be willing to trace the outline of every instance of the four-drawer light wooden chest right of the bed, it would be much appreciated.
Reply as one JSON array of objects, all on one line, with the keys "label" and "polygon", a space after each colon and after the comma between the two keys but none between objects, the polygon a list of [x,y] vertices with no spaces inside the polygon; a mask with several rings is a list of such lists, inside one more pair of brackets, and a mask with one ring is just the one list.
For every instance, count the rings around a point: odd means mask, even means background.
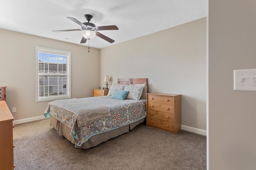
[{"label": "four-drawer light wooden chest right of the bed", "polygon": [[176,134],[181,129],[180,94],[147,93],[147,126]]}]

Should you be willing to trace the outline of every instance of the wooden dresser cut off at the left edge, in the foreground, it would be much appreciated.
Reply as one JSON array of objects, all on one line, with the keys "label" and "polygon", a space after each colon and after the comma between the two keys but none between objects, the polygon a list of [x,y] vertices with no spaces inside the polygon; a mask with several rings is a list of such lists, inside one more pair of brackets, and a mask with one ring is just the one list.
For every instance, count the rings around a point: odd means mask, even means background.
[{"label": "wooden dresser cut off at the left edge, in the foreground", "polygon": [[0,101],[0,170],[13,170],[13,117],[5,101]]}]

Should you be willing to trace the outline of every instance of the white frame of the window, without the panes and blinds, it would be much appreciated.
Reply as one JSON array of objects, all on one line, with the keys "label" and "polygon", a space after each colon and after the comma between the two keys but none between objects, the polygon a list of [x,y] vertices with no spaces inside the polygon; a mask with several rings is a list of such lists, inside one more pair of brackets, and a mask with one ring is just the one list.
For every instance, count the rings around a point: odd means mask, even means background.
[{"label": "white frame of the window, without the panes and blinds", "polygon": [[[60,96],[44,96],[39,97],[39,76],[53,76],[54,73],[39,73],[39,53],[48,53],[66,56],[66,94]],[[56,75],[57,76],[57,75]],[[59,100],[71,98],[71,51],[63,51],[58,49],[50,49],[36,46],[36,102],[49,100]]]}]

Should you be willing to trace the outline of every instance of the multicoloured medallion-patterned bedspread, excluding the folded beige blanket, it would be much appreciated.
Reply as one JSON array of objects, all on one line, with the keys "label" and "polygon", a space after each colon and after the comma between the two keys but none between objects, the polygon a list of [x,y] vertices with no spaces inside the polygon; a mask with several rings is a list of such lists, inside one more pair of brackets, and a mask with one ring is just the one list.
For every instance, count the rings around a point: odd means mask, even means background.
[{"label": "multicoloured medallion-patterned bedspread, excluding the folded beige blanket", "polygon": [[108,107],[110,116],[79,126],[76,116],[65,109],[48,106],[45,111],[72,129],[70,135],[77,146],[81,146],[93,135],[128,125],[146,117],[145,99],[118,100],[112,99],[110,96],[98,96],[86,98],[86,100]]}]

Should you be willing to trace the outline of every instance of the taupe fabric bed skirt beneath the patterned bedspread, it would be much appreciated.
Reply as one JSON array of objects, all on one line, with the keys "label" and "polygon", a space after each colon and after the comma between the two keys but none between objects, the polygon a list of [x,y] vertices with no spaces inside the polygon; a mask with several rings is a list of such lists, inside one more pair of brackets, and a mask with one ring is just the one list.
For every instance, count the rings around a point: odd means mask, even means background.
[{"label": "taupe fabric bed skirt beneath the patterned bedspread", "polygon": [[122,135],[129,130],[132,130],[135,126],[142,123],[145,118],[140,119],[136,122],[130,123],[128,125],[119,127],[117,129],[113,129],[111,131],[106,131],[104,133],[99,133],[97,135],[94,135],[90,137],[85,143],[83,143],[81,146],[77,146],[74,143],[74,139],[70,135],[71,128],[67,125],[64,125],[58,119],[56,119],[54,116],[51,116],[50,118],[50,126],[54,127],[57,130],[57,133],[59,135],[64,136],[66,139],[68,139],[71,143],[75,145],[76,148],[82,148],[82,149],[88,149],[90,147],[94,147],[96,145],[99,145],[102,142],[107,141],[108,139],[117,137],[119,135]]}]

